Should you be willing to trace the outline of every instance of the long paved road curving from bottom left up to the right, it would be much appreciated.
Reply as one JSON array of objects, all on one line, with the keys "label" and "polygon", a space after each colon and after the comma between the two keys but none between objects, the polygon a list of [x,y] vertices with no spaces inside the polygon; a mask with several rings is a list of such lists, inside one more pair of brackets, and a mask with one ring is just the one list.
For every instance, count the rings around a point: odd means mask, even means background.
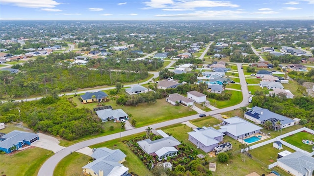
[{"label": "long paved road curving from bottom left up to the right", "polygon": [[[248,105],[249,92],[248,92],[248,88],[246,85],[244,73],[243,73],[243,70],[241,69],[241,64],[237,64],[237,67],[238,67],[240,84],[241,84],[241,89],[242,89],[242,94],[243,94],[243,101],[241,103],[235,105],[235,106],[224,108],[224,109],[219,109],[219,110],[212,110],[209,112],[205,112],[204,114],[214,115],[214,114],[218,114],[218,113],[222,113],[222,112],[226,112],[226,111],[230,111],[230,110],[235,110],[235,109],[238,109],[240,107],[245,107]],[[182,122],[197,119],[197,118],[199,118],[198,114],[179,118],[179,119],[169,120],[169,121],[165,121],[165,122],[160,122],[160,123],[149,125],[149,126],[153,129],[158,129],[161,127],[169,126],[171,124],[182,123]],[[145,129],[147,127],[148,126],[121,132],[121,136],[122,137],[123,136],[129,136],[129,135],[136,134],[139,132],[145,132]],[[59,163],[59,161],[61,161],[65,156],[67,156],[71,152],[77,151],[78,149],[81,149],[81,148],[84,148],[84,147],[87,147],[90,145],[94,145],[94,144],[98,144],[101,142],[105,142],[105,141],[109,141],[109,140],[113,140],[113,139],[118,139],[118,138],[120,138],[120,133],[115,133],[115,134],[110,134],[110,135],[82,141],[82,142],[73,144],[67,148],[64,148],[61,151],[54,154],[52,157],[50,157],[42,165],[42,167],[40,168],[40,170],[38,172],[38,176],[52,176],[53,170],[56,167],[56,165]]]}]

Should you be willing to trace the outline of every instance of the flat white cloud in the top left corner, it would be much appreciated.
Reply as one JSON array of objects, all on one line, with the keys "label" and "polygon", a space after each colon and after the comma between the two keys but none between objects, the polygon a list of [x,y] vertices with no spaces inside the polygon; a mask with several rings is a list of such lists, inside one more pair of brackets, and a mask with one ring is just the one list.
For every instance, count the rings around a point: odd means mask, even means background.
[{"label": "flat white cloud in the top left corner", "polygon": [[56,2],[54,0],[1,0],[1,3],[29,8],[53,8],[56,5],[61,4],[60,2]]}]

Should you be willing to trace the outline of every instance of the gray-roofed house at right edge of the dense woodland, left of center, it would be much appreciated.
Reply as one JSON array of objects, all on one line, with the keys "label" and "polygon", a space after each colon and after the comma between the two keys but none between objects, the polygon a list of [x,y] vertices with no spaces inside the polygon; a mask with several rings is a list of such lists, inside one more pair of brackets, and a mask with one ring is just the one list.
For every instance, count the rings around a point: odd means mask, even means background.
[{"label": "gray-roofed house at right edge of the dense woodland, left of center", "polygon": [[109,120],[120,121],[121,119],[128,119],[128,114],[125,111],[123,111],[122,109],[97,110],[96,114],[98,115],[98,117],[100,119],[102,119],[102,122],[107,122]]}]

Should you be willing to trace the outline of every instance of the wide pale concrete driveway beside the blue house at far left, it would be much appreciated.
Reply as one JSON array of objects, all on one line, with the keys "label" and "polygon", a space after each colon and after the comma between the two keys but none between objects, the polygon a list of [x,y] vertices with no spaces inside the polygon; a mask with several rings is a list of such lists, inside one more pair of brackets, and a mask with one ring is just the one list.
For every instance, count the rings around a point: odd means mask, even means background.
[{"label": "wide pale concrete driveway beside the blue house at far left", "polygon": [[32,143],[31,146],[51,150],[53,153],[57,153],[60,150],[65,148],[65,147],[59,146],[60,142],[58,139],[52,136],[43,134],[43,133],[37,133],[37,134],[39,135],[39,140]]}]

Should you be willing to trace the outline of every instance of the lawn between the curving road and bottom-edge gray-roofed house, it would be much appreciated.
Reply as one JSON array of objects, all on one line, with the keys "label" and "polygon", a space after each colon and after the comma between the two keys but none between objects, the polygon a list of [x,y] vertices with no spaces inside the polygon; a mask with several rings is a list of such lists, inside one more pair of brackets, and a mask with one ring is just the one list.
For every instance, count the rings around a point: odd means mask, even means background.
[{"label": "lawn between the curving road and bottom-edge gray-roofed house", "polygon": [[84,176],[82,167],[88,164],[90,156],[73,152],[64,157],[53,171],[53,176]]}]

